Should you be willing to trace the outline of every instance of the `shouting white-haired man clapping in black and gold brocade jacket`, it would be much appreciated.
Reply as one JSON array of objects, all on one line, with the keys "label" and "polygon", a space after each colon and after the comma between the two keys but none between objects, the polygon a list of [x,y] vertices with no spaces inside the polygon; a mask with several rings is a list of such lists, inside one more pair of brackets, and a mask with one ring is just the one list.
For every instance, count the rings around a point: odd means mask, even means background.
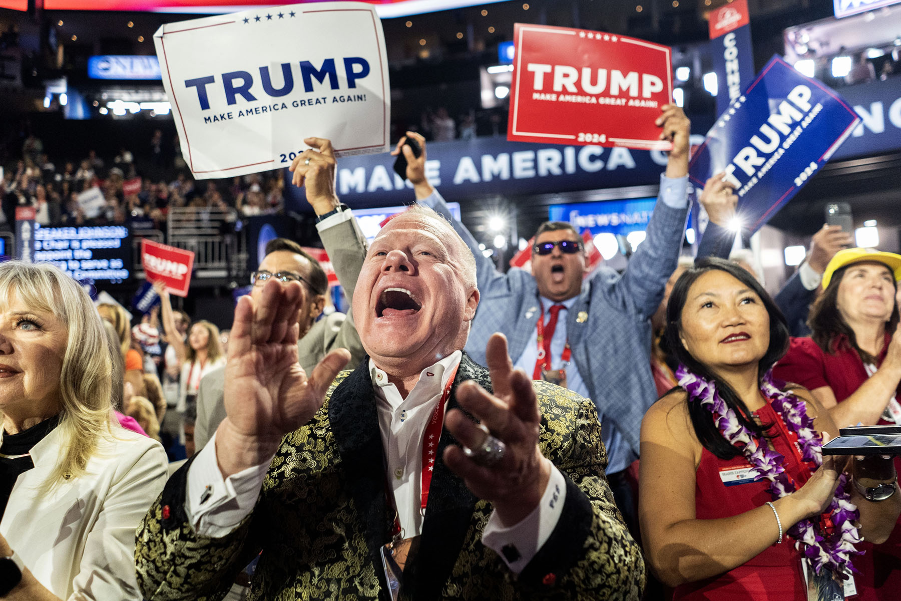
[{"label": "shouting white-haired man clapping in black and gold brocade jacket", "polygon": [[[332,159],[311,152],[296,182]],[[475,269],[440,215],[396,216],[353,297],[368,358],[341,373],[344,350],[297,363],[301,284],[241,297],[228,416],[138,531],[144,596],[222,599],[262,551],[250,599],[640,598],[595,406],[514,370],[501,335],[488,369],[462,352]]]}]

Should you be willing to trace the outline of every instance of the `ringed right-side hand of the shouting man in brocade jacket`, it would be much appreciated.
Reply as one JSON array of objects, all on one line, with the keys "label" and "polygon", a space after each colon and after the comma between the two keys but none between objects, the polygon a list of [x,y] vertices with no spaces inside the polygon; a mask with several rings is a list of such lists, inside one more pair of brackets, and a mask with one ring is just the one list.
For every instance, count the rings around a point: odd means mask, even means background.
[{"label": "ringed right-side hand of the shouting man in brocade jacket", "polygon": [[[465,382],[457,390],[457,400],[505,443],[504,457],[486,467],[451,445],[444,450],[444,462],[473,494],[494,505],[503,524],[513,525],[541,501],[551,478],[551,462],[538,447],[541,414],[532,381],[522,369],[513,368],[503,334],[488,340],[486,356],[494,394],[475,382]],[[449,412],[445,424],[469,448],[485,440],[485,432],[460,410]]]}]

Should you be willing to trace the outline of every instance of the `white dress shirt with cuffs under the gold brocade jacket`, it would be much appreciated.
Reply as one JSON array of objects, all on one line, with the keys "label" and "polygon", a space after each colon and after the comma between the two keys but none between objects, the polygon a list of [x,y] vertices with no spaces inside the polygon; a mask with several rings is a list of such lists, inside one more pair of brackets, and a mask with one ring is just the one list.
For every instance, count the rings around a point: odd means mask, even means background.
[{"label": "white dress shirt with cuffs under the gold brocade jacket", "polygon": [[[387,381],[387,374],[369,360],[369,373],[377,399],[378,427],[385,447],[387,476],[405,538],[422,533],[420,469],[423,434],[447,378],[460,365],[461,356],[460,351],[455,351],[423,369],[419,381],[406,398],[400,395],[394,384]],[[437,452],[438,444],[434,444]],[[231,533],[253,510],[269,461],[223,478],[215,447],[214,434],[187,471],[185,509],[196,533],[218,538]],[[560,470],[551,466],[548,486],[534,511],[518,524],[508,527],[492,513],[482,533],[482,542],[496,551],[518,574],[551,536],[565,501],[566,481]],[[502,552],[509,545],[517,552]],[[515,560],[507,560],[507,555]]]}]

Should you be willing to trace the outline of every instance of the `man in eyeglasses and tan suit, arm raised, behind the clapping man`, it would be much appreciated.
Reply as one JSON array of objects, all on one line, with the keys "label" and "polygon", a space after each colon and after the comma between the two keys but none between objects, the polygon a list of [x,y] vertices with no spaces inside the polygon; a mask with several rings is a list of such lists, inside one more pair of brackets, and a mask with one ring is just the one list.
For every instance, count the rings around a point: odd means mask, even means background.
[{"label": "man in eyeglasses and tan suit, arm raised, behind the clapping man", "polygon": [[[352,218],[350,210],[341,205],[335,194],[336,161],[332,142],[322,138],[307,138],[312,147],[296,161],[294,183],[305,186],[306,200],[317,215],[316,229],[323,246],[332,260],[338,281],[344,287],[347,298],[353,297],[359,270],[366,258],[366,238]],[[309,159],[309,160],[307,160]],[[316,321],[323,312],[328,279],[319,261],[303,250],[295,241],[277,238],[266,245],[266,256],[259,268],[250,276],[250,297],[259,302],[263,287],[269,279],[282,284],[300,282],[304,291],[300,307],[300,333],[297,341],[297,359],[307,373],[316,363],[334,349],[350,351],[350,366],[356,367],[364,351],[353,322],[352,311],[345,316],[332,313]],[[195,425],[196,449],[209,442],[216,428],[225,419],[225,369],[214,369],[200,381],[197,391],[197,421]]]}]

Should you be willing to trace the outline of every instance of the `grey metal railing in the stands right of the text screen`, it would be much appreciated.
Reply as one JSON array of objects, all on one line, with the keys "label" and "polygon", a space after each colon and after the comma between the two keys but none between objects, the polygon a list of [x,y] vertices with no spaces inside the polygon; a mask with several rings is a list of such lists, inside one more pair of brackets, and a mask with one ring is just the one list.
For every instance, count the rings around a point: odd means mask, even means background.
[{"label": "grey metal railing in the stands right of the text screen", "polygon": [[247,241],[235,232],[236,215],[229,209],[171,207],[168,244],[194,252],[198,278],[235,278],[247,267]]}]

